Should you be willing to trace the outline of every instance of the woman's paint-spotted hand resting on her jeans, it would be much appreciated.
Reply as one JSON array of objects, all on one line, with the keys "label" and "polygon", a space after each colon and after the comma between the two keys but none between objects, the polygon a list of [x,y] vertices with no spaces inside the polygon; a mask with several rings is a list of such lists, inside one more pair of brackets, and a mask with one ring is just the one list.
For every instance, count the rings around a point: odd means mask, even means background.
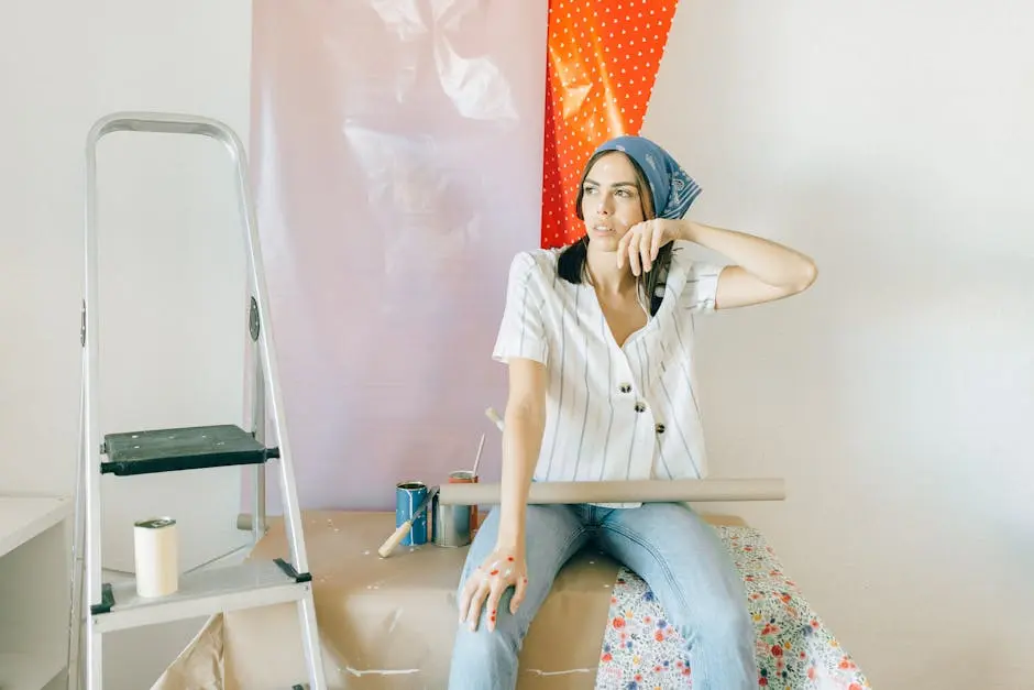
[{"label": "woman's paint-spotted hand resting on her jeans", "polygon": [[528,588],[528,569],[522,550],[496,546],[495,550],[471,572],[460,595],[460,623],[468,621],[472,631],[477,629],[482,606],[488,610],[488,631],[495,629],[499,599],[510,587],[514,596],[509,602],[510,615],[524,601]]}]

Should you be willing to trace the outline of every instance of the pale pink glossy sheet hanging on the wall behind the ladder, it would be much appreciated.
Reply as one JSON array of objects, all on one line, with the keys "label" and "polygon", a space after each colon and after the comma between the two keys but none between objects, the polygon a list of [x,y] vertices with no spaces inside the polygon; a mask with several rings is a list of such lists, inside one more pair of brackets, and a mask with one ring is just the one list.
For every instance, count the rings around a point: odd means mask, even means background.
[{"label": "pale pink glossy sheet hanging on the wall behind the ladder", "polygon": [[509,262],[540,242],[547,8],[254,3],[251,167],[302,507],[394,508],[483,432],[498,478],[484,409],[505,406]]}]

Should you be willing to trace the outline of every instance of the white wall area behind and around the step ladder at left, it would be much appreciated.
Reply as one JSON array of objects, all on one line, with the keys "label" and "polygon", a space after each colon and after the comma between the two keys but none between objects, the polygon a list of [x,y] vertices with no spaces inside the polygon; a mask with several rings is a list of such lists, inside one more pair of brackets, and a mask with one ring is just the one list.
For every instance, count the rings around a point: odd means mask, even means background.
[{"label": "white wall area behind and around the step ladder at left", "polygon": [[[74,486],[88,129],[113,110],[186,111],[246,142],[250,43],[248,0],[0,9],[0,491]],[[230,169],[208,141],[101,143],[107,431],[241,419],[244,264]],[[103,486],[108,567],[132,568],[132,522],[151,513],[179,518],[186,566],[245,540],[235,471]],[[150,687],[197,627],[113,636],[106,688]]]}]

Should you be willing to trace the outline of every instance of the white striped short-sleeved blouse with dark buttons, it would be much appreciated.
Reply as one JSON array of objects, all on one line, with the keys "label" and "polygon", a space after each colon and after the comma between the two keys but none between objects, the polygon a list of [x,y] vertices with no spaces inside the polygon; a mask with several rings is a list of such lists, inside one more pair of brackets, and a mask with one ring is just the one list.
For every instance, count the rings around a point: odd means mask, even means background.
[{"label": "white striped short-sleeved blouse with dark buttons", "polygon": [[685,250],[675,243],[660,309],[623,347],[593,287],[558,276],[559,249],[514,258],[493,358],[546,365],[536,481],[706,475],[693,320],[714,310],[722,266],[693,261]]}]

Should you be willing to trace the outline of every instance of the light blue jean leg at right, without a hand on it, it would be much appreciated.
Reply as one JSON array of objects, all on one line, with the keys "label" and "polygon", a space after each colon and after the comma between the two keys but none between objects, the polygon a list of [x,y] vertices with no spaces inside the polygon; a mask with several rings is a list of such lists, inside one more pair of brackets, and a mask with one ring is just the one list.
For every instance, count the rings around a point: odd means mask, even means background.
[{"label": "light blue jean leg at right, without a hand on it", "polygon": [[686,640],[695,690],[758,687],[746,590],[714,527],[684,504],[648,503],[608,513],[600,539],[646,581]]}]

